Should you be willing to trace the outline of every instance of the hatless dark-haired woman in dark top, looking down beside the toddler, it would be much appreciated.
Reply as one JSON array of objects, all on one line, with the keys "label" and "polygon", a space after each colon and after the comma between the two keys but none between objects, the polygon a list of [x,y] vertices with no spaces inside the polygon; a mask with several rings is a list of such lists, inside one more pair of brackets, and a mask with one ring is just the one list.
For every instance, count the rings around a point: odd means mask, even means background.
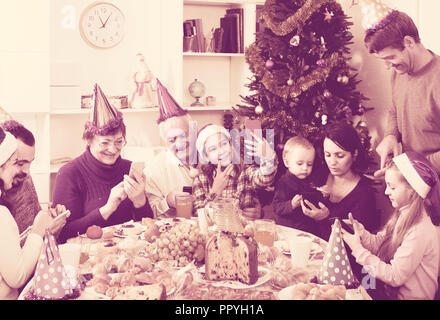
[{"label": "hatless dark-haired woman in dark top, looking down beside the toddler", "polygon": [[363,175],[368,159],[356,130],[345,122],[329,125],[323,151],[327,168],[321,179],[329,194],[327,206],[305,200],[303,213],[318,222],[324,240],[330,237],[334,218],[348,219],[350,212],[367,230],[375,231],[380,217],[371,181]]}]

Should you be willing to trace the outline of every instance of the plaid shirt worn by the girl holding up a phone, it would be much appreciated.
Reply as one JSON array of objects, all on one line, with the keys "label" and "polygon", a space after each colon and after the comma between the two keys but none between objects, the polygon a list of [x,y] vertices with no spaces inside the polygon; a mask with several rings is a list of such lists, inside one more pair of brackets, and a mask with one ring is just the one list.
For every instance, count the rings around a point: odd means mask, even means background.
[{"label": "plaid shirt worn by the girl holding up a phone", "polygon": [[[271,187],[274,183],[277,172],[278,159],[263,162],[260,166],[255,164],[245,167],[241,172],[233,171],[229,176],[229,181],[223,189],[220,196],[227,198],[236,198],[239,201],[240,209],[254,208],[260,205],[257,196],[259,188],[265,189]],[[214,176],[216,170],[214,170]],[[239,175],[238,179],[236,176]],[[212,185],[209,184],[208,176],[200,172],[193,183],[194,210],[204,208],[208,202],[216,198],[212,192]]]}]

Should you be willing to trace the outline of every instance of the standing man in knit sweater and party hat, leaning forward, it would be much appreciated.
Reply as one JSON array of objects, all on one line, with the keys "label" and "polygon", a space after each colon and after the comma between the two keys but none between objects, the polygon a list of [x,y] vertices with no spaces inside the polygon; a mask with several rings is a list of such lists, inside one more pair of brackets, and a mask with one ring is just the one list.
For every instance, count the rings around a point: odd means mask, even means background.
[{"label": "standing man in knit sweater and party hat, leaning forward", "polygon": [[[367,11],[373,8],[370,2],[362,2]],[[373,11],[366,12],[370,24],[365,35],[369,52],[393,69],[392,105],[384,139],[376,148],[381,169],[390,155],[398,155],[400,142],[404,152],[422,153],[440,172],[440,57],[423,46],[407,14],[381,8],[374,11],[376,20]]]}]

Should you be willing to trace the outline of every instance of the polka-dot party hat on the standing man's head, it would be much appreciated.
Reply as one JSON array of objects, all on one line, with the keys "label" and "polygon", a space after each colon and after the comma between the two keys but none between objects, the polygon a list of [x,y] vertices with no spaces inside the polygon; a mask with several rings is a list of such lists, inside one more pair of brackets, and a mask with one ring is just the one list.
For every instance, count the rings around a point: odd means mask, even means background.
[{"label": "polka-dot party hat on the standing man's head", "polygon": [[381,0],[361,0],[362,13],[364,18],[362,26],[367,33],[374,33],[387,26],[396,15],[397,11],[392,10]]}]

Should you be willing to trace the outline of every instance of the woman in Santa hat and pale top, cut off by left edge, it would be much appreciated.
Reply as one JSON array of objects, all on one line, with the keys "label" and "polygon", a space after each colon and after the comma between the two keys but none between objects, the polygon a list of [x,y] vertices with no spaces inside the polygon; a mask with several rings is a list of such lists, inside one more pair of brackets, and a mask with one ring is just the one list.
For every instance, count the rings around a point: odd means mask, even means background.
[{"label": "woman in Santa hat and pale top, cut off by left edge", "polygon": [[[17,141],[14,136],[0,129],[0,190],[13,187],[14,179],[20,173],[17,158]],[[35,269],[43,246],[46,228],[52,228],[52,218],[40,211],[23,247],[17,223],[9,210],[0,206],[0,300],[17,299],[21,288]]]}]

